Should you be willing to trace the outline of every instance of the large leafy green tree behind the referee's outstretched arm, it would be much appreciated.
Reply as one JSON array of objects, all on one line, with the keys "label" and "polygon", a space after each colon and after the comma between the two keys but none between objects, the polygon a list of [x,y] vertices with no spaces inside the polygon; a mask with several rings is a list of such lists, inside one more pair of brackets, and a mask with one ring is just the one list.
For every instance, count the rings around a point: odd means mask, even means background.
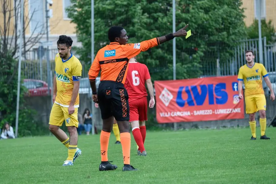
[{"label": "large leafy green tree behind the referee's outstretched arm", "polygon": [[[90,0],[71,0],[68,16],[76,24],[81,60],[91,63]],[[110,26],[123,26],[129,42],[136,43],[172,32],[171,0],[106,0],[94,1],[95,54],[109,43]],[[176,30],[187,23],[192,36],[176,39],[177,79],[198,77],[207,62],[226,61],[232,54],[235,40],[246,36],[240,0],[176,0]],[[172,79],[172,41],[141,53],[137,58],[145,63],[153,80]],[[212,54],[210,54],[212,53]],[[90,57],[89,57],[90,56]]]}]

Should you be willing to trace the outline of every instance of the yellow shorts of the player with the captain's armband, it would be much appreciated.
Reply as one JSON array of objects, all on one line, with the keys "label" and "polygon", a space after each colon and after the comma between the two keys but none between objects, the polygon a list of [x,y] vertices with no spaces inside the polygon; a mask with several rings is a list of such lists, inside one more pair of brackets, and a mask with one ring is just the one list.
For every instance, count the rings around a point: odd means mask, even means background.
[{"label": "yellow shorts of the player with the captain's armband", "polygon": [[64,120],[66,126],[75,126],[78,128],[78,108],[75,108],[75,112],[73,114],[69,114],[68,107],[63,107],[54,103],[50,114],[49,124],[62,126]]}]

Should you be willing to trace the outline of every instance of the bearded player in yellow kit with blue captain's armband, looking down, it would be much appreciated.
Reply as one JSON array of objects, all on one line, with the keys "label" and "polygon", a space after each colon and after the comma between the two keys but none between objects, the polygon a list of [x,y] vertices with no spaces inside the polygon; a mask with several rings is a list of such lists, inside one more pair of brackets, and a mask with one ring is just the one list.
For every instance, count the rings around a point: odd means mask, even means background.
[{"label": "bearded player in yellow kit with blue captain's armband, looking down", "polygon": [[[68,148],[68,157],[63,166],[71,166],[81,155],[77,148],[79,80],[82,75],[82,65],[79,59],[70,52],[73,40],[69,36],[61,35],[57,41],[59,53],[55,58],[55,76],[53,79],[53,106],[50,114],[49,129],[56,138]],[[63,130],[65,120],[70,139]]]}]

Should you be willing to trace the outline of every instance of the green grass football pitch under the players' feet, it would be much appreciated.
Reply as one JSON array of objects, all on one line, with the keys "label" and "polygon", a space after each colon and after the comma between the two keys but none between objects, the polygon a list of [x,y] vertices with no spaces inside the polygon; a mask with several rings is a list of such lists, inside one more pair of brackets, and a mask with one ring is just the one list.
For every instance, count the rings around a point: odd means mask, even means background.
[{"label": "green grass football pitch under the players' feet", "polygon": [[67,149],[54,137],[0,140],[0,183],[276,183],[276,128],[270,140],[250,139],[249,128],[147,132],[147,157],[139,157],[132,136],[131,164],[122,172],[121,144],[110,136],[109,160],[115,171],[98,171],[99,135],[79,136],[82,155],[62,167]]}]

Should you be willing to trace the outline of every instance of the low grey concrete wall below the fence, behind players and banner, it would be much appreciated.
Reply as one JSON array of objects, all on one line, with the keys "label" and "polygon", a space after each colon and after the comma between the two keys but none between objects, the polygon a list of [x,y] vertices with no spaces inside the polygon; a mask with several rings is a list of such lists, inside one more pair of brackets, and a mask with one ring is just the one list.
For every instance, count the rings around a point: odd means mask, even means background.
[{"label": "low grey concrete wall below the fence, behind players and banner", "polygon": [[[43,122],[44,125],[48,125],[49,116],[51,112],[51,97],[27,97],[27,103],[32,109],[35,109],[37,112],[37,121]],[[272,118],[276,115],[276,102],[272,102],[270,97],[266,97],[266,119],[267,124],[270,124]],[[79,112],[82,114],[84,109],[88,108],[91,112],[91,97],[87,96],[87,94],[80,94],[80,107]],[[155,112],[155,109],[150,109],[148,111]],[[98,129],[102,128],[102,119],[101,112],[99,108],[96,108],[96,119],[95,125]],[[259,125],[259,113],[256,114],[257,125]],[[244,119],[236,119],[236,120],[223,120],[223,121],[201,121],[201,122],[183,122],[178,123],[178,128],[219,128],[219,127],[237,127],[237,126],[248,126],[248,115],[245,114]],[[173,126],[173,124],[160,125],[163,126]]]}]

